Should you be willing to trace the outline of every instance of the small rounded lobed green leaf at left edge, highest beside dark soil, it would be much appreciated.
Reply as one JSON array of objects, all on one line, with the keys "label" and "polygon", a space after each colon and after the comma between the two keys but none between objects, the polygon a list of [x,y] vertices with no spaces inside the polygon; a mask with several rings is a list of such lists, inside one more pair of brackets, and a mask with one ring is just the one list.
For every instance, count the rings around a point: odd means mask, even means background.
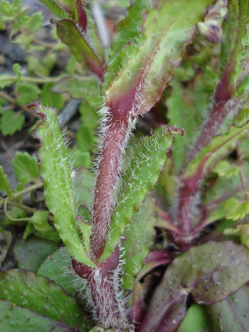
[{"label": "small rounded lobed green leaf at left edge, highest beside dark soil", "polygon": [[22,129],[25,123],[25,116],[22,113],[6,111],[0,119],[0,130],[4,136],[13,135]]}]

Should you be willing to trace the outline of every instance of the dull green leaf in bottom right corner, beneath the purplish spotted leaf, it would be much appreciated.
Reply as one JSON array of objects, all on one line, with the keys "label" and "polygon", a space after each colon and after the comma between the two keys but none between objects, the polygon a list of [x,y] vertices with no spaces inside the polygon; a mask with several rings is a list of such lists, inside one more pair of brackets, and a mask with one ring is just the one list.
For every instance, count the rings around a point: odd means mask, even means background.
[{"label": "dull green leaf in bottom right corner, beneath the purplish spotted leaf", "polygon": [[246,332],[249,325],[248,301],[249,288],[242,286],[224,300],[206,306],[212,331]]}]

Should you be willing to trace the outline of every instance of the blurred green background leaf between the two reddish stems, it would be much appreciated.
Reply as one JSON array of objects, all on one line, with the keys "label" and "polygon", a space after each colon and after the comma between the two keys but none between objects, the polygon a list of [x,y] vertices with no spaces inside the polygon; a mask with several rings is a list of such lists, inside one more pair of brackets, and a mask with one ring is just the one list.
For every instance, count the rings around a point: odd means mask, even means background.
[{"label": "blurred green background leaf between the two reddish stems", "polygon": [[[179,69],[181,67],[175,70],[174,75],[179,73]],[[172,94],[166,99],[167,117],[170,123],[184,130],[184,139],[176,137],[172,151],[176,173],[180,170],[184,158],[199,134],[202,119],[206,117],[208,101],[216,85],[214,71],[208,66],[191,82],[191,88],[184,87],[177,77],[171,84]],[[211,89],[208,84],[211,85]]]}]

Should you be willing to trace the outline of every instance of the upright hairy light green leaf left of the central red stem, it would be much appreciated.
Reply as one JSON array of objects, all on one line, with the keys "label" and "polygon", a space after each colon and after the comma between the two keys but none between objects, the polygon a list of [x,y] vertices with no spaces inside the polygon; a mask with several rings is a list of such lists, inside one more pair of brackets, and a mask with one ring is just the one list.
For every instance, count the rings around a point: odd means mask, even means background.
[{"label": "upright hairy light green leaf left of the central red stem", "polygon": [[76,230],[76,200],[72,188],[69,159],[57,122],[57,113],[52,108],[38,105],[35,112],[41,118],[36,135],[42,142],[38,154],[41,160],[40,174],[44,178],[46,205],[54,216],[55,227],[66,244],[69,254],[76,261],[93,266]]}]

